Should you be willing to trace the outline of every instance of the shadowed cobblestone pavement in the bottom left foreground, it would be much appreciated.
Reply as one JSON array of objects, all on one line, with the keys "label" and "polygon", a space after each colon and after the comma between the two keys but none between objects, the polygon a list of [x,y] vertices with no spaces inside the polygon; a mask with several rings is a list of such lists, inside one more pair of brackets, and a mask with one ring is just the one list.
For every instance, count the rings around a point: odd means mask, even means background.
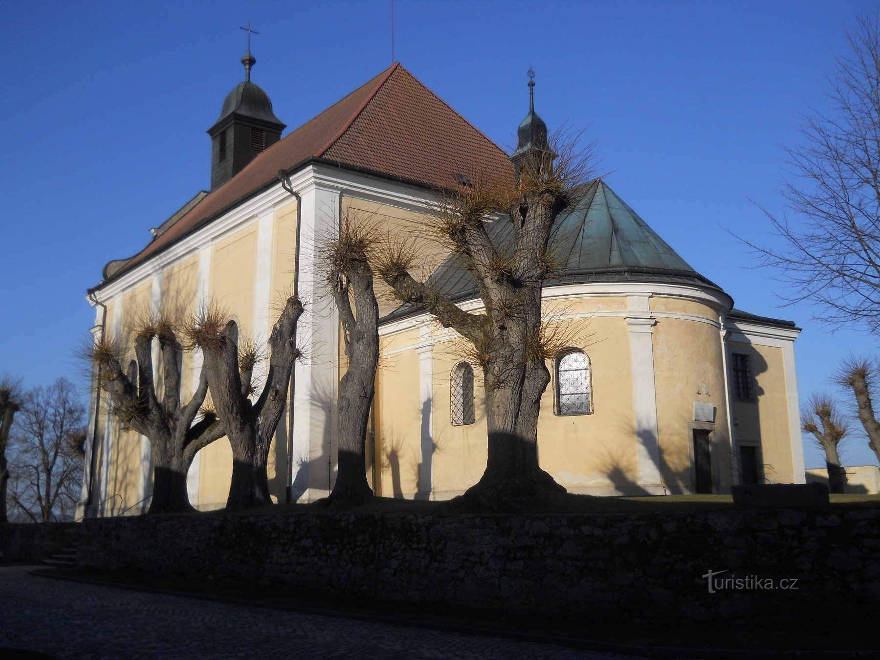
[{"label": "shadowed cobblestone pavement in the bottom left foreground", "polygon": [[62,582],[0,567],[0,656],[624,658],[496,637]]}]

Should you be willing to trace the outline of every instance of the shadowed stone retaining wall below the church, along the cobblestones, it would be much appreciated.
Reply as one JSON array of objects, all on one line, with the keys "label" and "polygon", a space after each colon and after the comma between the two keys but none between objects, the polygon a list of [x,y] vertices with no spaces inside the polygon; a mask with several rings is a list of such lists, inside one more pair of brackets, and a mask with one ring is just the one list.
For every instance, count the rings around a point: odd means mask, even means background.
[{"label": "shadowed stone retaining wall below the church, along the cobblestones", "polygon": [[[82,567],[246,579],[457,608],[766,624],[851,618],[880,605],[880,510],[202,515],[83,526]],[[796,580],[796,589],[710,593],[709,570],[727,571],[719,580]]]}]

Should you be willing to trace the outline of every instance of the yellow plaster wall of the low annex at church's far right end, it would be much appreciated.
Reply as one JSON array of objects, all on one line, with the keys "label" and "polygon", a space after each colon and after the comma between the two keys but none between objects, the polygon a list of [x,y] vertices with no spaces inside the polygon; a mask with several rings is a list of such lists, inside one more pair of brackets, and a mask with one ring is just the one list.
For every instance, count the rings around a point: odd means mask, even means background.
[{"label": "yellow plaster wall of the low annex at church's far right end", "polygon": [[730,341],[730,353],[752,356],[755,403],[733,402],[734,435],[738,442],[759,442],[764,476],[773,483],[796,479],[788,422],[788,392],[782,349]]}]

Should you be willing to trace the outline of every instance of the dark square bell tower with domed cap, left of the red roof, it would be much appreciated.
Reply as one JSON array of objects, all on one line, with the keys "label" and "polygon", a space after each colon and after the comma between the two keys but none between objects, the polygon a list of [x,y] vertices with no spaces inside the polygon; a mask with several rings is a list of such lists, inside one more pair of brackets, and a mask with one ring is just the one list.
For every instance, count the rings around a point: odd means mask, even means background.
[{"label": "dark square bell tower with domed cap, left of the red roof", "polygon": [[272,101],[266,92],[251,82],[251,69],[256,62],[248,48],[241,58],[245,82],[226,95],[220,119],[209,128],[211,190],[223,186],[253,158],[278,142],[286,127],[272,111]]}]

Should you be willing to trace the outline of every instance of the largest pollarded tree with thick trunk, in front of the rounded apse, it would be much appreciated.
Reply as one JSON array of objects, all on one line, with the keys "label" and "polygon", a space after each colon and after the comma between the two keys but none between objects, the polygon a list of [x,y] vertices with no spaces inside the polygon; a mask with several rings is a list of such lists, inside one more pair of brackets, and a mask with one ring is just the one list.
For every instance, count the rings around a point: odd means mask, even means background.
[{"label": "largest pollarded tree with thick trunk, in front of the rounded apse", "polygon": [[[557,216],[576,202],[588,178],[589,153],[574,141],[539,142],[517,161],[509,184],[474,177],[440,194],[426,219],[473,275],[482,311],[466,311],[412,275],[412,249],[392,245],[376,260],[400,301],[452,327],[473,346],[487,398],[488,461],[466,501],[489,508],[564,492],[539,467],[540,400],[550,382],[541,317],[541,290],[554,260],[548,244]],[[490,227],[490,224],[492,226]]]}]

